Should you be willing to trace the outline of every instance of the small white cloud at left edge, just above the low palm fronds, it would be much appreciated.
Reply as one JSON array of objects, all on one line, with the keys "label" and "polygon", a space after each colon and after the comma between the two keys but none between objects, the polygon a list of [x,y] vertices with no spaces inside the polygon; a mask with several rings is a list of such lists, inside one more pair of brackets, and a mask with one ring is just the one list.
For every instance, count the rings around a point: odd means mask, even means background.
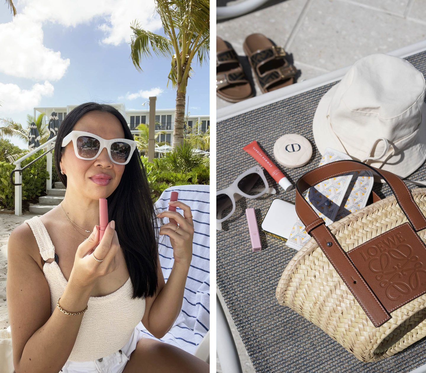
[{"label": "small white cloud at left edge, just above the low palm fronds", "polygon": [[10,117],[12,113],[32,110],[39,106],[43,96],[52,96],[53,91],[54,88],[48,81],[36,83],[30,90],[21,90],[16,84],[0,83],[0,116]]}]

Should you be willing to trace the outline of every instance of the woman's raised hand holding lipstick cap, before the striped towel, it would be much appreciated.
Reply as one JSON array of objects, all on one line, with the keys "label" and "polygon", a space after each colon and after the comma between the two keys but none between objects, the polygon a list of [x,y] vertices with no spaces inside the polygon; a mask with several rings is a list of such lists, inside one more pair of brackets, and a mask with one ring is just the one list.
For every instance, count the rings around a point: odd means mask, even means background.
[{"label": "woman's raised hand holding lipstick cap, before the striped towel", "polygon": [[159,218],[173,218],[178,223],[178,226],[173,223],[163,224],[159,234],[169,236],[173,247],[175,263],[185,264],[189,268],[192,260],[192,241],[194,238],[194,223],[192,221],[191,208],[180,201],[170,202],[169,205],[180,207],[184,211],[184,216],[176,211],[163,211],[157,214]]}]

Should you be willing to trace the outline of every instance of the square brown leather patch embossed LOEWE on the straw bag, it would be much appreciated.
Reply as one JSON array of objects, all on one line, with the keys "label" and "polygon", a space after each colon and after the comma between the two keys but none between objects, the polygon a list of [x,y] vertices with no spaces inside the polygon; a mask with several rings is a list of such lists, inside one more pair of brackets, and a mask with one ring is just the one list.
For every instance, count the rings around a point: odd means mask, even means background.
[{"label": "square brown leather patch embossed LOEWE on the straw bag", "polygon": [[389,312],[426,292],[426,246],[409,223],[363,243],[348,256]]}]

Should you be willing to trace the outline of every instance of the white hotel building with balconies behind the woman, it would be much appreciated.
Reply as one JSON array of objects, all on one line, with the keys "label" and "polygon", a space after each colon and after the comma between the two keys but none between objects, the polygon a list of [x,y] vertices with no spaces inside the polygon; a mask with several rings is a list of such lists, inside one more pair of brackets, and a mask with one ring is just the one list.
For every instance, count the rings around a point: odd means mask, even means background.
[{"label": "white hotel building with balconies behind the woman", "polygon": [[[130,130],[134,130],[135,127],[140,123],[148,124],[150,121],[150,110],[147,106],[145,110],[126,110],[126,107],[122,103],[109,104],[115,107],[123,116],[126,118],[126,122],[130,127]],[[63,107],[35,107],[34,108],[34,117],[44,113],[44,124],[49,123],[50,114],[52,111],[58,113],[59,123],[62,123],[65,119],[66,114],[68,114],[72,109],[78,105],[67,105]],[[194,124],[198,121],[200,126],[198,128],[199,132],[206,132],[210,127],[210,116],[209,115],[190,115],[185,116],[188,126],[193,127]],[[160,123],[155,125],[155,132],[164,131],[165,133],[158,136],[156,142],[166,142],[168,145],[173,146],[173,126],[175,122],[175,109],[156,109],[155,110],[155,122]]]}]

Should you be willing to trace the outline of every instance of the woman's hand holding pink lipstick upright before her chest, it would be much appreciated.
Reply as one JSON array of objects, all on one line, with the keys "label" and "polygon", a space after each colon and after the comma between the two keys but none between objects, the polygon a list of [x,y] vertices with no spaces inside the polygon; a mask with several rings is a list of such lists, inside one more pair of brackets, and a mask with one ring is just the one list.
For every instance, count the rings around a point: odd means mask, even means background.
[{"label": "woman's hand holding pink lipstick upright before her chest", "polygon": [[[105,229],[104,237],[99,242],[99,226],[84,240],[75,253],[69,281],[81,288],[92,288],[96,280],[118,269],[115,255],[120,249],[117,232],[111,227],[111,222]],[[98,262],[92,256],[102,260]]]}]

